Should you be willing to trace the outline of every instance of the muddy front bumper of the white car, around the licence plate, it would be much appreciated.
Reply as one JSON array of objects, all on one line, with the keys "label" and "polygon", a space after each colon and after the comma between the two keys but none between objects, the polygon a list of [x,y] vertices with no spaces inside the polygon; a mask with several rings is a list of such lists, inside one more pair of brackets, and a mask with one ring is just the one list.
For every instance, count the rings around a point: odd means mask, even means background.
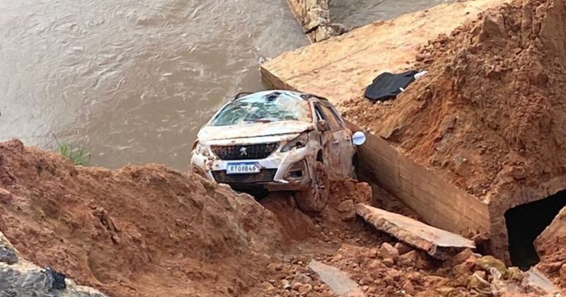
[{"label": "muddy front bumper of the white car, around the licence plate", "polygon": [[[311,168],[314,154],[308,147],[294,148],[282,153],[279,148],[260,160],[221,160],[214,154],[204,156],[193,153],[191,167],[208,180],[238,187],[261,186],[269,191],[307,190],[311,185]],[[229,163],[253,162],[260,166],[260,173],[226,174]]]}]

